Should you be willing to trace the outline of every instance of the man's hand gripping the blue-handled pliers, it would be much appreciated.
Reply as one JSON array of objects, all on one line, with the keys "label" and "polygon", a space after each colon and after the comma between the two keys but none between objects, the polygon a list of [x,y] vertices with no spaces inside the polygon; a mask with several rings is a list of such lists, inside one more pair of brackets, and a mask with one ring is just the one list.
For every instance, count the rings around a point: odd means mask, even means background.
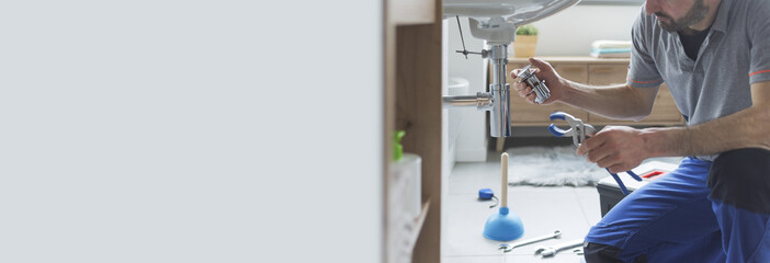
[{"label": "man's hand gripping the blue-handled pliers", "polygon": [[612,173],[625,172],[649,157],[642,134],[643,130],[627,126],[607,126],[586,139],[577,155],[586,156],[600,168],[609,168]]}]

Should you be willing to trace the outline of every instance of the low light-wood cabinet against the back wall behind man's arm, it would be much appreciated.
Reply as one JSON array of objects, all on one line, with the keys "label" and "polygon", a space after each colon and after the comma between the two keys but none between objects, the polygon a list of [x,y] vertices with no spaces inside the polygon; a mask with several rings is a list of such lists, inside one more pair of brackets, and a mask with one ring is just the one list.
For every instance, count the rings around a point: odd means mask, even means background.
[{"label": "low light-wood cabinet against the back wall behind man's arm", "polygon": [[[629,59],[598,59],[591,57],[543,57],[542,59],[548,61],[556,72],[565,79],[591,85],[625,83],[629,70]],[[529,61],[524,58],[510,58],[508,69],[523,68],[526,65],[529,65]],[[513,80],[509,78],[508,81],[512,83]],[[548,83],[546,82],[545,84],[547,85]],[[658,91],[653,112],[639,122],[614,121],[560,103],[535,105],[526,102],[518,94],[512,94],[510,108],[512,125],[518,127],[547,126],[551,124],[548,115],[556,111],[569,113],[591,125],[676,126],[684,123],[679,110],[677,110],[677,105],[673,103],[671,93],[665,84]]]}]

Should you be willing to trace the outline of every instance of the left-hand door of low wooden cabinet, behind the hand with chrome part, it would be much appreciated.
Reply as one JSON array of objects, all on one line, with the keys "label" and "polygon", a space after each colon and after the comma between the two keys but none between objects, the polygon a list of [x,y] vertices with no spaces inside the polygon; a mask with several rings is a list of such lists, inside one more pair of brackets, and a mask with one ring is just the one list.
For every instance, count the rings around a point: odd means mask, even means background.
[{"label": "left-hand door of low wooden cabinet, behind the hand with chrome part", "polygon": [[[511,71],[525,66],[526,65],[522,64],[508,65]],[[585,65],[553,65],[553,67],[556,72],[559,72],[559,75],[569,80],[582,83],[586,82],[586,76],[588,76],[588,72],[586,72]],[[514,80],[510,78],[510,75],[508,77],[508,83],[514,83]],[[546,82],[545,85],[547,87],[548,83]],[[511,90],[513,90],[513,88],[511,88]],[[516,91],[512,91],[511,93],[510,103],[511,122],[513,126],[548,126],[551,124],[548,116],[551,116],[553,112],[558,111],[569,113],[570,115],[581,119],[588,118],[588,113],[562,103],[553,103],[551,105],[531,104],[523,98],[519,96]]]}]

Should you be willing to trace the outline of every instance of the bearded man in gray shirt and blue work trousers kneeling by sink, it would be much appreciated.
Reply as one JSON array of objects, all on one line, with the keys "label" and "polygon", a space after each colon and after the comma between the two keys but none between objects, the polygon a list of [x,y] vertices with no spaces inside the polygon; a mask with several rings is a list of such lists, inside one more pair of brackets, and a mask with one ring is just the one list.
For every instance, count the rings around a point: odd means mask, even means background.
[{"label": "bearded man in gray shirt and blue work trousers kneeling by sink", "polygon": [[[614,87],[574,83],[530,59],[551,89],[544,104],[642,119],[666,82],[688,123],[610,126],[577,149],[613,173],[689,156],[591,228],[587,262],[770,262],[770,1],[648,0],[632,39],[627,82]],[[534,101],[530,87],[514,88]]]}]

